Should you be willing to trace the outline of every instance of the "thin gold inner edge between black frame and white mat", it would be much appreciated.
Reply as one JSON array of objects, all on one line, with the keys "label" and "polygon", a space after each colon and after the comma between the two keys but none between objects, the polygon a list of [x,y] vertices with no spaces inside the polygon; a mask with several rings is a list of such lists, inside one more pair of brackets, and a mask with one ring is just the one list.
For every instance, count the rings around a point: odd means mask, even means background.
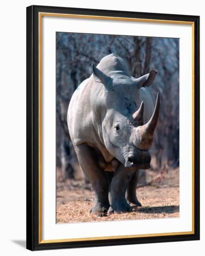
[{"label": "thin gold inner edge between black frame and white mat", "polygon": [[[42,17],[64,17],[64,18],[81,18],[81,19],[95,19],[95,20],[120,20],[120,21],[135,21],[135,22],[154,22],[164,24],[180,24],[192,25],[192,231],[172,232],[172,233],[156,233],[156,234],[140,234],[140,235],[125,235],[125,236],[99,236],[99,237],[82,237],[70,239],[53,239],[42,240]],[[138,19],[125,17],[109,17],[96,15],[78,15],[78,14],[64,14],[64,13],[38,13],[38,113],[39,113],[39,161],[38,161],[38,175],[39,175],[39,226],[38,226],[38,242],[39,243],[63,243],[63,242],[80,242],[80,241],[96,241],[107,239],[122,239],[122,238],[139,238],[139,237],[153,237],[153,236],[176,236],[176,235],[191,235],[194,234],[194,22],[192,21],[178,21],[178,20],[154,20],[154,19]]]}]

